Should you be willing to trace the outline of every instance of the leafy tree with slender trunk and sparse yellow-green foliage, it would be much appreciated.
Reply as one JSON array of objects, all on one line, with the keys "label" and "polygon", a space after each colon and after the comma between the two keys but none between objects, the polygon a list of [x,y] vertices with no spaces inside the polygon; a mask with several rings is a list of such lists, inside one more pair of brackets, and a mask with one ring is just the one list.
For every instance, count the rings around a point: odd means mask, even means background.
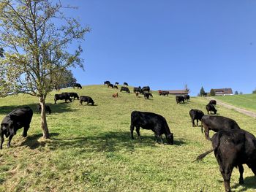
[{"label": "leafy tree with slender trunk and sparse yellow-green foliage", "polygon": [[[37,96],[42,107],[41,128],[44,138],[49,138],[45,116],[45,99],[53,89],[60,70],[80,66],[83,40],[89,28],[80,26],[78,20],[65,17],[61,2],[50,0],[1,0],[0,47],[4,58],[1,89],[11,93],[28,93]],[[76,45],[74,53],[69,45]]]}]

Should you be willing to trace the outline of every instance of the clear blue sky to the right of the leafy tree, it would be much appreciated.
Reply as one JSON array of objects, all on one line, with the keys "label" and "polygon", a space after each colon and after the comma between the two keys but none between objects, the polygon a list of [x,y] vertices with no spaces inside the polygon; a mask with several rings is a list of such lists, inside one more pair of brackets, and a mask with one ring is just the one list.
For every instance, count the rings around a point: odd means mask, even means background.
[{"label": "clear blue sky to the right of the leafy tree", "polygon": [[153,90],[256,88],[255,0],[65,0],[91,32],[82,85],[128,82]]}]

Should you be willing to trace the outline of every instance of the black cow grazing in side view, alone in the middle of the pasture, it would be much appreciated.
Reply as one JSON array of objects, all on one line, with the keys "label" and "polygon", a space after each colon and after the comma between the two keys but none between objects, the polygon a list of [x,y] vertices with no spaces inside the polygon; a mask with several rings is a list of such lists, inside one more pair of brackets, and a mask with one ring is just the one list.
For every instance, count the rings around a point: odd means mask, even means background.
[{"label": "black cow grazing in side view, alone in the middle of the pasture", "polygon": [[[139,112],[133,111],[131,114],[131,137],[133,137],[133,130],[136,127],[136,132],[140,138],[140,127],[145,129],[151,129],[156,137],[162,142],[162,134],[165,134],[167,144],[173,145],[173,134],[167,125],[167,122],[162,115],[155,114],[153,112]],[[141,139],[141,138],[140,138]]]}]

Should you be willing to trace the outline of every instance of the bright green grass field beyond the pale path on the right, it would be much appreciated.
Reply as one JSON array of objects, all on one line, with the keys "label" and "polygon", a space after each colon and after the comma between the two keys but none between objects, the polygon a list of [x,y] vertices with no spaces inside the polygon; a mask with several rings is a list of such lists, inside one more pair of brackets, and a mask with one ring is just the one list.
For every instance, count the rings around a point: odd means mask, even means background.
[{"label": "bright green grass field beyond the pale path on the right", "polygon": [[215,98],[227,104],[256,112],[256,94],[215,96]]}]

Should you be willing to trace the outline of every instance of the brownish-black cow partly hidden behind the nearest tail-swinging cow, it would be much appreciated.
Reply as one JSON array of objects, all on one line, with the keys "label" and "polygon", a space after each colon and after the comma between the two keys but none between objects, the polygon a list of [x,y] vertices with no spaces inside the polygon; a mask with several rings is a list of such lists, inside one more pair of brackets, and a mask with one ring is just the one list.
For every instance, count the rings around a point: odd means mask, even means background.
[{"label": "brownish-black cow partly hidden behind the nearest tail-swinging cow", "polygon": [[206,139],[210,139],[209,131],[221,131],[221,130],[230,130],[230,129],[240,129],[238,123],[235,120],[230,118],[225,118],[218,115],[203,115],[201,120],[202,122],[202,131],[205,129]]}]

